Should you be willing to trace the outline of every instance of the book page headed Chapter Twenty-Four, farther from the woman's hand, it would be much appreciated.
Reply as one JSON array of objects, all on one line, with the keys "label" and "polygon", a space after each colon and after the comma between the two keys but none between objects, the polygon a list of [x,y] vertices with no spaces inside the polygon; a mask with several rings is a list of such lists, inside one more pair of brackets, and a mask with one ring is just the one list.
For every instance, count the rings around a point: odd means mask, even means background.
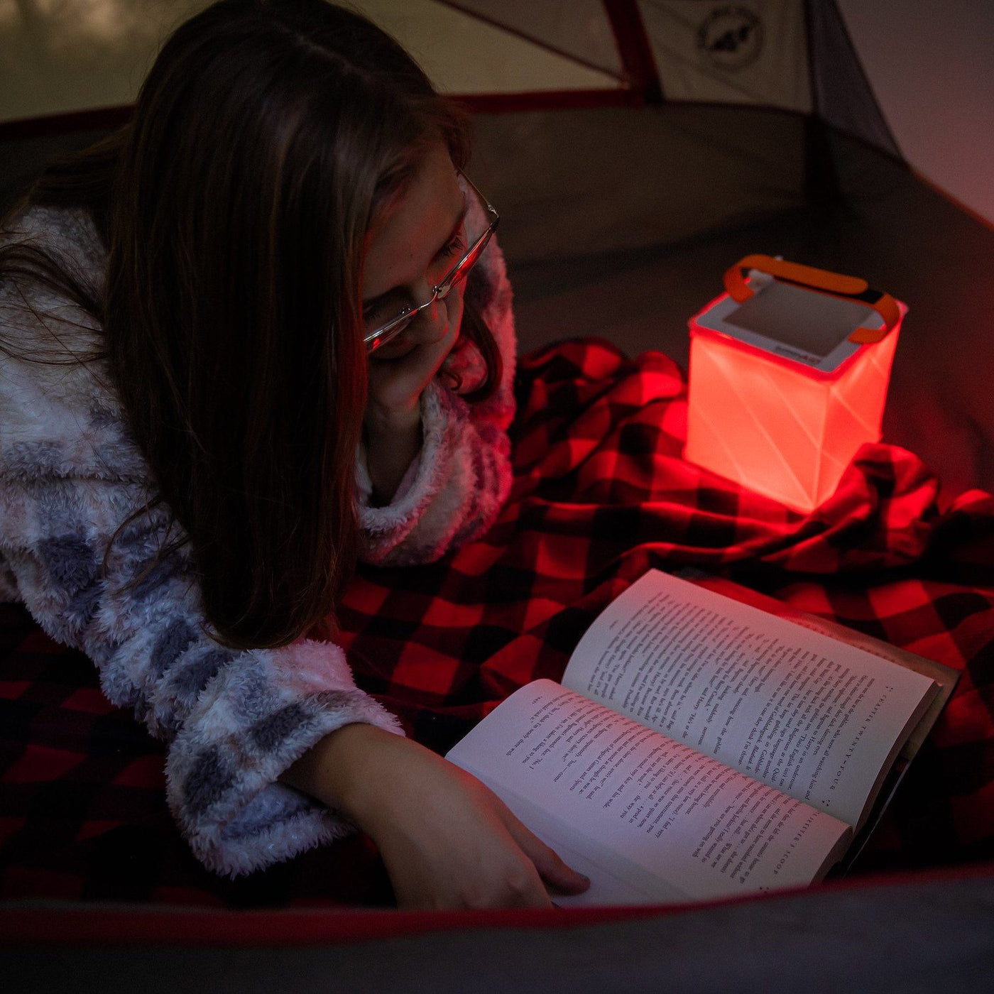
[{"label": "book page headed Chapter Twenty-Four, farther from the woman's hand", "polygon": [[563,685],[859,827],[933,682],[659,571],[609,604]]}]

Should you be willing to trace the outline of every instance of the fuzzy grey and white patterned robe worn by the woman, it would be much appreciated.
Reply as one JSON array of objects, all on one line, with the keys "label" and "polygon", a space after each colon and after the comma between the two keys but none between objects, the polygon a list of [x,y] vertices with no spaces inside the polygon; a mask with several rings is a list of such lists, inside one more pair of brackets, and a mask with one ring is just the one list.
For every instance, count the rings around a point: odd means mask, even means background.
[{"label": "fuzzy grey and white patterned robe worn by the woman", "polygon": [[[99,287],[106,254],[83,212],[33,208],[14,229],[6,241],[48,248]],[[439,379],[428,385],[422,449],[390,506],[369,506],[359,454],[370,562],[436,559],[482,534],[507,497],[515,340],[510,286],[494,242],[467,293],[475,294],[500,347],[500,389],[470,406]],[[99,336],[67,301],[37,286],[0,285],[0,338],[19,352],[60,342],[85,351],[98,347]],[[479,355],[471,345],[461,348],[448,368],[461,376],[463,391],[470,389]],[[0,355],[0,599],[23,600],[49,635],[81,649],[98,667],[111,703],[133,708],[153,736],[169,742],[168,801],[181,831],[208,868],[246,874],[352,829],[341,815],[276,782],[294,759],[353,722],[403,732],[356,688],[332,643],[300,639],[239,652],[207,637],[186,547],[119,592],[154,557],[170,516],[160,506],[138,518],[102,571],[110,536],[154,496],[108,383],[99,363],[45,365]]]}]

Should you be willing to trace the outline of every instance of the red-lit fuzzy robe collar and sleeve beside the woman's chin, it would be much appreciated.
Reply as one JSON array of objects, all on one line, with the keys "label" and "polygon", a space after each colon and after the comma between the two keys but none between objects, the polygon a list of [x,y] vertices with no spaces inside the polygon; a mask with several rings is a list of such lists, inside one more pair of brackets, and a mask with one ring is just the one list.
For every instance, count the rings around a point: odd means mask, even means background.
[{"label": "red-lit fuzzy robe collar and sleeve beside the woman's chin", "polygon": [[389,566],[432,562],[486,532],[510,492],[507,427],[514,415],[516,343],[511,286],[496,239],[491,239],[470,273],[465,292],[500,352],[497,390],[486,401],[463,399],[479,381],[482,357],[472,342],[460,337],[440,375],[421,395],[421,451],[398,495],[385,507],[370,504],[372,484],[360,449],[359,521],[367,562]]}]

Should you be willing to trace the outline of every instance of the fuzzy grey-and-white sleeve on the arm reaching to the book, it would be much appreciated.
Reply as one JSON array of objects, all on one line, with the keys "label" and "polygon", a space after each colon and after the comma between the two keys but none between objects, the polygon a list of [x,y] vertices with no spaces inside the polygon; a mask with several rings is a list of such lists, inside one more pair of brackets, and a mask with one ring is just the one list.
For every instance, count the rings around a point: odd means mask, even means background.
[{"label": "fuzzy grey-and-white sleeve on the arm reaching to the book", "polygon": [[96,664],[109,701],[169,744],[169,806],[209,869],[246,874],[348,833],[277,777],[343,725],[403,734],[398,720],[356,688],[332,643],[237,651],[209,637],[183,550],[124,589],[176,537],[163,505],[120,533],[103,568],[118,525],[153,492],[101,378],[99,367],[0,366],[4,591],[16,588],[49,635]]}]

